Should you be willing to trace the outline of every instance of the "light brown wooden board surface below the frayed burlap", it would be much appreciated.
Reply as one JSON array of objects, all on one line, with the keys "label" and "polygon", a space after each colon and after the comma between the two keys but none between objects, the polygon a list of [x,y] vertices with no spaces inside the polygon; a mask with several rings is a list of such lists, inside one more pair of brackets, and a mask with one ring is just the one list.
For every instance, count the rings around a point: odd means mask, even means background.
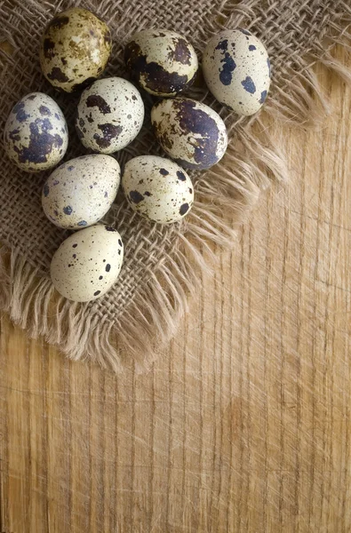
[{"label": "light brown wooden board surface below the frayed burlap", "polygon": [[218,250],[148,374],[3,317],[2,533],[351,530],[351,92],[320,76],[334,113],[284,129],[290,187]]}]

